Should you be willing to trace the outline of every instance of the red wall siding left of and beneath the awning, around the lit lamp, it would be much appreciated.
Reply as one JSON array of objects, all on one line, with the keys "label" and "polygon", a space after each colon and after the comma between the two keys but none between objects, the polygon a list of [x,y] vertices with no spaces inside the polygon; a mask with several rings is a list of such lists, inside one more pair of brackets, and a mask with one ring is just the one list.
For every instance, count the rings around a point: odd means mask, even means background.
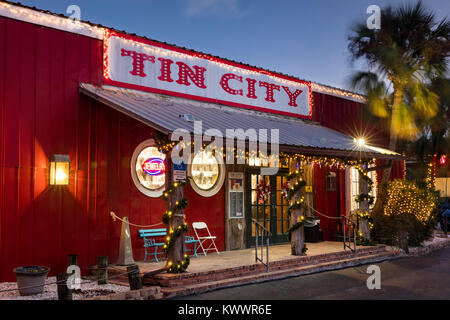
[{"label": "red wall siding left of and beneath the awning, around the lit lamp", "polygon": [[[14,280],[19,265],[63,272],[68,254],[84,273],[99,255],[114,262],[121,225],[111,210],[136,224],[161,222],[165,203],[139,192],[130,174],[152,130],[78,93],[79,82],[101,77],[101,41],[0,18],[0,281]],[[70,185],[50,187],[49,158],[59,153],[70,155]],[[224,192],[200,198],[186,189],[187,221],[205,221],[219,250]],[[141,260],[142,240],[131,233]]]}]

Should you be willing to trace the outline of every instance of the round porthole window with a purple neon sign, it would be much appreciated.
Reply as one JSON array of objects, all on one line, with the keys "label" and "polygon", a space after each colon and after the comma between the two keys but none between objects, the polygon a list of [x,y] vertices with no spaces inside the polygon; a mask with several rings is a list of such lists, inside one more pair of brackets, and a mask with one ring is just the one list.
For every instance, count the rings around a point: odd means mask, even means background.
[{"label": "round porthole window with a purple neon sign", "polygon": [[131,158],[131,177],[136,188],[149,197],[160,197],[166,183],[166,155],[155,147],[153,139],[139,144]]}]

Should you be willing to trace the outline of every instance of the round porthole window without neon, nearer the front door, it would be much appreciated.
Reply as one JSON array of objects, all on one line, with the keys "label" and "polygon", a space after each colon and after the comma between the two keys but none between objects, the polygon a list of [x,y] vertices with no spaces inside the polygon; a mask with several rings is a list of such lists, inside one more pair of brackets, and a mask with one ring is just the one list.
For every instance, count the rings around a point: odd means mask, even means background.
[{"label": "round porthole window without neon, nearer the front door", "polygon": [[225,165],[211,152],[202,151],[192,158],[188,175],[192,177],[191,186],[198,194],[211,197],[223,185]]}]

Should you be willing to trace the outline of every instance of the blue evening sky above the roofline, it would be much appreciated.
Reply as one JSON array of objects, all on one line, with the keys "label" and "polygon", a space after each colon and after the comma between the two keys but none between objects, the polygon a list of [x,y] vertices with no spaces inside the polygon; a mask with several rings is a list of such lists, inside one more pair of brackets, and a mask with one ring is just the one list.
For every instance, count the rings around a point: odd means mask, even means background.
[{"label": "blue evening sky above the roofline", "polygon": [[[400,0],[22,0],[66,14],[81,8],[81,19],[171,44],[339,88],[364,66],[352,65],[347,50],[350,26],[368,18],[375,4]],[[450,17],[449,0],[426,0],[439,19]]]}]

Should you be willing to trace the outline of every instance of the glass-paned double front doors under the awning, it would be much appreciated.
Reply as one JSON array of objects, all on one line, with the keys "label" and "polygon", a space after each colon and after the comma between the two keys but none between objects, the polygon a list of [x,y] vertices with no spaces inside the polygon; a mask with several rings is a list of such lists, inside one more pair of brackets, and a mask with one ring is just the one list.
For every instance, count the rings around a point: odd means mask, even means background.
[{"label": "glass-paned double front doors under the awning", "polygon": [[[270,184],[271,195],[267,201],[259,201],[257,197],[257,185],[264,179]],[[255,245],[255,225],[252,219],[258,221],[272,236],[270,243],[288,242],[286,231],[289,228],[289,216],[287,213],[288,202],[281,196],[282,186],[286,181],[285,173],[279,172],[273,176],[261,176],[258,171],[250,171],[246,177],[246,219],[247,219],[247,247]],[[251,226],[251,228],[250,228]]]}]

